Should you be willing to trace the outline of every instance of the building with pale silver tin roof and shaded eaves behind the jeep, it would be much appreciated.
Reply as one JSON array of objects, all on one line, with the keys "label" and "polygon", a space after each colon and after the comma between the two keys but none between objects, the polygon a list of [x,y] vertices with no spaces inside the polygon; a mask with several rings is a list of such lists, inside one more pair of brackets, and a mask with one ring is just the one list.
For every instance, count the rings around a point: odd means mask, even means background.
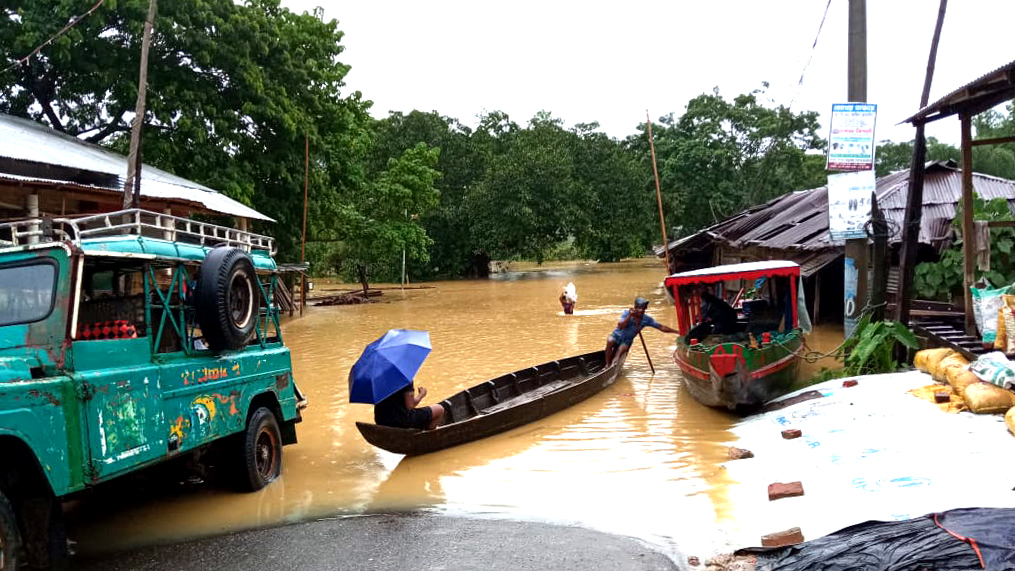
[{"label": "building with pale silver tin roof and shaded eaves behind the jeep", "polygon": [[[127,157],[45,125],[0,114],[0,217],[74,216],[118,211]],[[148,210],[187,217],[270,217],[207,187],[144,164],[141,200]]]}]

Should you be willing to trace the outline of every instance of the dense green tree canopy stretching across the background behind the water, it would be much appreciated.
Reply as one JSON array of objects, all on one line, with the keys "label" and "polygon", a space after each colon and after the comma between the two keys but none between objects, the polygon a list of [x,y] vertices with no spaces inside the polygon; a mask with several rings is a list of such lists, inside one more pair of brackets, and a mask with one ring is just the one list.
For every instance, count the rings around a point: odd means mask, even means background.
[{"label": "dense green tree canopy stretching across the background behind the water", "polygon": [[[106,0],[0,75],[0,112],[121,152],[137,95],[148,0]],[[33,0],[0,15],[4,61],[81,10]],[[438,111],[373,119],[347,92],[343,33],[280,0],[162,2],[152,41],[142,154],[277,220],[283,261],[299,256],[304,146],[314,271],[397,280],[475,277],[493,259],[604,262],[659,243],[648,125],[624,140],[540,112],[484,112],[475,127]],[[653,124],[671,238],[784,193],[825,184],[818,115],[718,89]],[[1013,110],[975,119],[978,137],[1015,134]],[[877,171],[908,167],[911,143],[883,143]],[[931,160],[960,158],[929,141]],[[977,147],[976,170],[1015,179],[1015,144]]]}]

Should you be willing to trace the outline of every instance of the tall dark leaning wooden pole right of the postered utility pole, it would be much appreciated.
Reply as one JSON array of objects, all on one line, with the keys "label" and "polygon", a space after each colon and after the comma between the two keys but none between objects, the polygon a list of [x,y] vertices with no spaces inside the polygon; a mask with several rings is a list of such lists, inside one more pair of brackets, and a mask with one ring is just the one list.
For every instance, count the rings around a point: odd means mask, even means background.
[{"label": "tall dark leaning wooden pole right of the postered utility pole", "polygon": [[[920,109],[927,106],[931,96],[931,81],[934,79],[934,65],[938,58],[938,43],[941,27],[945,21],[948,0],[941,0],[938,21],[931,40],[931,55],[927,61],[927,75],[924,77],[924,91],[920,96]],[[897,319],[908,325],[909,305],[912,298],[912,275],[917,268],[917,249],[920,248],[920,224],[924,215],[924,161],[927,159],[927,139],[924,137],[924,123],[917,124],[917,138],[913,140],[912,160],[909,162],[909,185],[906,198],[905,219],[902,223],[902,251],[899,254],[898,270],[898,314]]]}]

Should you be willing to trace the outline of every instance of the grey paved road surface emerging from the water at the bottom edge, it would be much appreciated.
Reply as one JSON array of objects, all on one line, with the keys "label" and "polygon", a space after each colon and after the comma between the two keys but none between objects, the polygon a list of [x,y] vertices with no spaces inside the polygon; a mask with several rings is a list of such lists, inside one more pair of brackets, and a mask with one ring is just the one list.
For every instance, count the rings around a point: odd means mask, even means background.
[{"label": "grey paved road surface emerging from the water at the bottom edge", "polygon": [[418,514],[322,519],[75,563],[83,571],[678,569],[637,540],[583,527]]}]

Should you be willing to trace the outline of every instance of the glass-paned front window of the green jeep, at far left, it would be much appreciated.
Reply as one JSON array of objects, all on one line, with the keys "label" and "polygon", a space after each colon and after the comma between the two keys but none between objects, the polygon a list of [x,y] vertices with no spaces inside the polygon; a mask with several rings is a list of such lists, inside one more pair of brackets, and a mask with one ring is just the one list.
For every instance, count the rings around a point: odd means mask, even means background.
[{"label": "glass-paned front window of the green jeep, at far left", "polygon": [[56,300],[57,266],[32,262],[0,267],[0,327],[45,319]]}]

